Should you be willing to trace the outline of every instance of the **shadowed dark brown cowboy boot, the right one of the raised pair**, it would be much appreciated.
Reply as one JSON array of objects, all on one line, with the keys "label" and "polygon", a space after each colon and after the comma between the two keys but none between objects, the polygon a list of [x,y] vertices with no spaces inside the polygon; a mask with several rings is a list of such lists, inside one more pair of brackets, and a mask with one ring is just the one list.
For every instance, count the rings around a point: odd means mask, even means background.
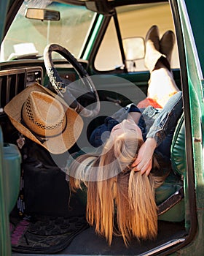
[{"label": "shadowed dark brown cowboy boot, the right one of the raised pair", "polygon": [[171,61],[175,41],[175,34],[170,30],[166,31],[160,39],[160,52],[166,56],[169,64]]}]

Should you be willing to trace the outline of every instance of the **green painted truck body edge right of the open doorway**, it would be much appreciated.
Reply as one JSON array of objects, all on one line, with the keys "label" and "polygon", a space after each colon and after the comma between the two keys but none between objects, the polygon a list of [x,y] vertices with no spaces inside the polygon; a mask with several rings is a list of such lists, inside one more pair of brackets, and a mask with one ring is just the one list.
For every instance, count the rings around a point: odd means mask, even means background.
[{"label": "green painted truck body edge right of the open doorway", "polygon": [[197,213],[197,233],[192,241],[182,248],[181,255],[203,255],[204,219],[204,162],[203,162],[203,72],[204,72],[204,20],[202,0],[178,0],[181,29],[187,61],[187,80],[192,127],[192,154],[195,178],[195,199]]}]

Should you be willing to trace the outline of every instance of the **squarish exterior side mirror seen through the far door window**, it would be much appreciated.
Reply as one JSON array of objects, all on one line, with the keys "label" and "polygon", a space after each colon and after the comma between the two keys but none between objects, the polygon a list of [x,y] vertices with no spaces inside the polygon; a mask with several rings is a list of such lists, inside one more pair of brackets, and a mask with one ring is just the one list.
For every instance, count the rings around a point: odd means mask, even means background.
[{"label": "squarish exterior side mirror seen through the far door window", "polygon": [[126,61],[144,59],[145,44],[143,37],[126,37],[122,39],[122,43]]}]

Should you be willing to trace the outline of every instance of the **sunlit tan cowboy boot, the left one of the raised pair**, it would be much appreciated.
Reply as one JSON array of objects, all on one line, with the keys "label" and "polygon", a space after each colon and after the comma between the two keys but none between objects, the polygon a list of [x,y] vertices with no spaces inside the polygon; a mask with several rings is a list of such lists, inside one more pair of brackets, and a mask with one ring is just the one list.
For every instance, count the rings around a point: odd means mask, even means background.
[{"label": "sunlit tan cowboy boot, the left one of the raised pair", "polygon": [[144,64],[152,72],[157,61],[161,58],[160,53],[160,37],[159,29],[156,25],[152,26],[146,34],[146,53],[144,58]]}]

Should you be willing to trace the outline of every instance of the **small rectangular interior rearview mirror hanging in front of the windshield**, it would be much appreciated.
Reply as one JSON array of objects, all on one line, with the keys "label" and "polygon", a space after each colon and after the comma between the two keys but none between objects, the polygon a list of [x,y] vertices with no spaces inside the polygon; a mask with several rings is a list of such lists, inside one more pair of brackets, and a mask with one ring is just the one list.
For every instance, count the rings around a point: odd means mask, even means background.
[{"label": "small rectangular interior rearview mirror hanging in front of the windshield", "polygon": [[60,20],[60,12],[55,10],[28,8],[26,18],[34,20]]}]

